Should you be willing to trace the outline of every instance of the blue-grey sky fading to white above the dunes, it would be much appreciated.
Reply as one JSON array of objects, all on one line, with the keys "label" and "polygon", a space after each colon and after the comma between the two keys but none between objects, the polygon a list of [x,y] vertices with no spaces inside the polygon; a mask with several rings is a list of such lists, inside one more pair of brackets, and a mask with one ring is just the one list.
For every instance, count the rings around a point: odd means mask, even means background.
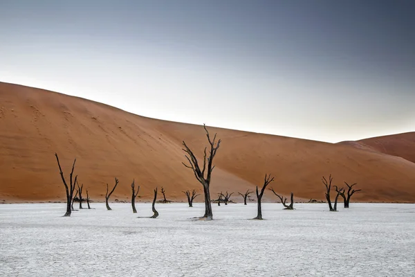
[{"label": "blue-grey sky fading to white above the dunes", "polygon": [[415,131],[415,1],[0,0],[0,82],[338,142]]}]

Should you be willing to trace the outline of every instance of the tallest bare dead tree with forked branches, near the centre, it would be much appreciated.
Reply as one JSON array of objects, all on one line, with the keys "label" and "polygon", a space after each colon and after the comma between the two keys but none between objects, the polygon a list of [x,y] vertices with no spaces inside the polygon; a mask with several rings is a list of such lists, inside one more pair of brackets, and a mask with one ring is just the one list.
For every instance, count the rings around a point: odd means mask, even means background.
[{"label": "tallest bare dead tree with forked branches, near the centre", "polygon": [[[221,145],[221,140],[216,143],[216,134],[214,134],[213,140],[210,139],[210,135],[208,132],[208,129],[206,129],[206,126],[203,124],[203,128],[205,129],[206,136],[208,137],[208,142],[210,144],[210,151],[209,151],[209,157],[206,157],[206,148],[203,155],[203,168],[201,169],[199,167],[199,163],[196,159],[196,156],[193,154],[192,150],[187,147],[185,141],[183,141],[184,149],[183,151],[187,153],[185,155],[187,161],[189,161],[190,165],[187,165],[186,163],[183,163],[183,165],[186,168],[190,168],[194,172],[194,177],[196,177],[196,180],[199,181],[203,186],[203,193],[205,195],[205,215],[203,217],[205,220],[212,220],[213,213],[212,213],[212,204],[210,202],[210,177],[212,176],[212,170],[214,169],[213,166],[213,158],[216,155],[216,151],[219,148],[219,145]],[[208,168],[206,168],[206,161],[208,162]],[[205,171],[206,175],[205,175]],[[206,176],[206,177],[205,177]]]}]

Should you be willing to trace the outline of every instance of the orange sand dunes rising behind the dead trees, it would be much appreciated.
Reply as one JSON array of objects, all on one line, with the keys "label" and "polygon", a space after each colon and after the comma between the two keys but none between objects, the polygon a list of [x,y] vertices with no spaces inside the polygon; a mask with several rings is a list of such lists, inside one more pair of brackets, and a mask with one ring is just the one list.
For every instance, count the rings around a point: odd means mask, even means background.
[{"label": "orange sand dunes rising behind the dead trees", "polygon": [[[208,127],[222,140],[214,163],[211,195],[270,184],[295,199],[324,199],[322,176],[333,184],[358,183],[351,202],[415,202],[415,132],[337,144]],[[55,152],[68,177],[75,174],[94,201],[104,201],[106,184],[120,184],[111,200],[149,201],[163,186],[168,199],[186,201],[183,190],[201,184],[185,168],[182,141],[202,158],[203,127],[130,114],[98,102],[0,82],[0,202],[65,201]],[[255,198],[255,197],[254,197]],[[270,191],[267,201],[276,201]],[[203,197],[196,198],[201,202]]]}]

